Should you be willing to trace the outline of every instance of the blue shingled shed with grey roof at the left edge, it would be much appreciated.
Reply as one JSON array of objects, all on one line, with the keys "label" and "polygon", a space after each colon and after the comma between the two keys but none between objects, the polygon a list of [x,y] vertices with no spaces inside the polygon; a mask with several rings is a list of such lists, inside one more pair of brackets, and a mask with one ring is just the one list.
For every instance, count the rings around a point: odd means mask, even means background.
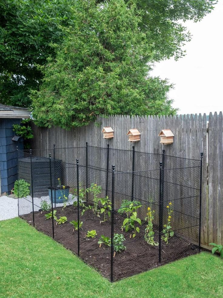
[{"label": "blue shingled shed with grey roof at the left edge", "polygon": [[12,125],[30,118],[27,108],[0,104],[0,194],[9,193],[17,179],[17,149],[23,149],[23,139],[13,138]]}]

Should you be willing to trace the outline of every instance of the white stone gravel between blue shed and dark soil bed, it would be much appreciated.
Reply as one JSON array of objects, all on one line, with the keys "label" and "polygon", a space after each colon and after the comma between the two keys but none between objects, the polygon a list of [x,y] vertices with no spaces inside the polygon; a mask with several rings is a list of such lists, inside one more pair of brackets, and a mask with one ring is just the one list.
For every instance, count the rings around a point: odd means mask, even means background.
[{"label": "white stone gravel between blue shed and dark soil bed", "polygon": [[[33,198],[34,211],[38,211],[41,208],[40,203],[43,200],[47,201],[49,204],[51,203],[49,196]],[[73,197],[72,194],[69,194],[68,200],[66,202],[67,206],[72,205],[73,202],[76,200],[77,200],[77,197]],[[62,203],[56,204],[56,207],[61,207],[61,206],[63,206]],[[7,196],[0,197],[0,220],[17,217],[18,207],[19,207],[19,215],[32,212],[32,197],[27,196],[26,198],[19,198],[19,200],[13,199]]]}]

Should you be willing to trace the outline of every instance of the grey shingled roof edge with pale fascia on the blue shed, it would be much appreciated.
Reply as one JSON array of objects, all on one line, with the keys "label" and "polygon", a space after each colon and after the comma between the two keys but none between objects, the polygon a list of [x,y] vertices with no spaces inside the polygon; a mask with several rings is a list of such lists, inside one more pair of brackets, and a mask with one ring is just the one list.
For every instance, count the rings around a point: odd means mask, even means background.
[{"label": "grey shingled roof edge with pale fascia on the blue shed", "polygon": [[30,114],[28,108],[0,104],[0,118],[30,118]]}]

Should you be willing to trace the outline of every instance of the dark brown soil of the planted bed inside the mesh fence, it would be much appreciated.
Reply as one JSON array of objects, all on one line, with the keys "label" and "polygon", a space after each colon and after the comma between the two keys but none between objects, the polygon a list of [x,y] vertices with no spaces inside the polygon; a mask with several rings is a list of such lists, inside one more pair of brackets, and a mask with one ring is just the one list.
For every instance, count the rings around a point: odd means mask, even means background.
[{"label": "dark brown soil of the planted bed inside the mesh fence", "polygon": [[[69,223],[72,220],[77,221],[77,208],[67,206],[64,210],[62,210],[62,207],[58,207],[56,210],[57,217],[66,216],[68,222],[56,225],[56,221],[54,221],[55,240],[77,254],[78,232],[73,231],[73,226]],[[46,219],[44,216],[46,213],[48,212],[34,212],[35,228],[52,237],[52,219]],[[32,224],[32,213],[22,215],[21,218]],[[111,248],[104,244],[99,248],[98,238],[101,235],[111,237],[111,222],[100,223],[100,220],[101,218],[95,216],[91,210],[86,211],[83,216],[80,214],[80,221],[83,221],[80,230],[80,257],[88,265],[95,267],[103,276],[110,279]],[[121,231],[124,217],[115,213],[114,220],[114,232],[122,233],[126,239],[125,242],[128,243],[125,244],[125,251],[115,254],[113,280],[147,271],[159,265],[196,254],[199,251],[197,246],[175,232],[174,236],[169,239],[168,245],[162,241],[161,264],[158,264],[158,246],[151,246],[144,240],[145,223],[140,227],[140,233],[137,233],[136,237],[132,239],[132,237],[130,238],[131,232]],[[98,238],[89,239],[85,237],[87,231],[91,230],[97,231]],[[158,231],[155,226],[154,231],[155,233]],[[155,236],[155,240],[158,241],[158,236]]]}]

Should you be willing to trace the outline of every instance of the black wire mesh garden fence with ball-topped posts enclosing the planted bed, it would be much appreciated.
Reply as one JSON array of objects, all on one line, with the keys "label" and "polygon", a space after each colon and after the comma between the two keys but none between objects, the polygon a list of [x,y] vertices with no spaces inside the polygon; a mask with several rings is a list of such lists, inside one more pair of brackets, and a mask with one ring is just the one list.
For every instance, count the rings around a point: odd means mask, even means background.
[{"label": "black wire mesh garden fence with ball-topped posts enclosing the planted bed", "polygon": [[18,150],[18,215],[113,282],[200,251],[202,158]]}]

